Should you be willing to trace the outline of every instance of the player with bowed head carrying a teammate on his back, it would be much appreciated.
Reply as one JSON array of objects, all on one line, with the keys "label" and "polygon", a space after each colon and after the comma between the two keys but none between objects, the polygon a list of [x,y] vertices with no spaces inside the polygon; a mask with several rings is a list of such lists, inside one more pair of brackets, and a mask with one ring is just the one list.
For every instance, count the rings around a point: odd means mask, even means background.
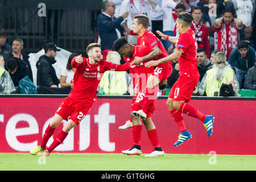
[{"label": "player with bowed head carrying a teammate on his back", "polygon": [[[142,61],[142,63],[135,65],[132,64],[135,56],[144,56],[151,52],[151,48],[147,46],[132,46],[127,42],[126,38],[119,38],[115,40],[113,44],[114,51],[117,51],[119,55],[123,56],[123,59],[126,63],[130,64],[130,75],[133,81],[134,88],[134,96],[132,101],[131,108],[131,121],[133,122],[133,142],[134,145],[129,150],[122,151],[123,154],[127,155],[140,155],[142,154],[141,150],[141,132],[142,132],[142,123],[139,117],[135,117],[133,115],[133,110],[137,107],[135,105],[135,101],[137,101],[138,93],[143,93],[143,90],[146,90],[147,78],[152,75],[154,72],[154,67],[146,68],[144,64],[147,61]],[[143,124],[146,127],[148,138],[152,146],[154,147],[154,151],[151,154],[146,156],[162,156],[164,155],[164,151],[160,147],[158,135],[156,133],[155,125],[152,121],[151,115],[155,110],[154,102],[151,102],[150,106],[148,106],[146,114],[147,118],[143,120]]]}]

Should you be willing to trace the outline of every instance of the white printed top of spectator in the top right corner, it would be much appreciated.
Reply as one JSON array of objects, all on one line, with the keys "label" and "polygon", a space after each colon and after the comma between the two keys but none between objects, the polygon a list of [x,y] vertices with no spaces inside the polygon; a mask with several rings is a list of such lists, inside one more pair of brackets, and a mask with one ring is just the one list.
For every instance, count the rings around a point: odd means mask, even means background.
[{"label": "white printed top of spectator in the top right corner", "polygon": [[251,32],[253,31],[253,16],[255,11],[254,0],[232,0],[231,1],[236,10],[238,19],[241,19],[245,25],[246,40],[250,40]]}]

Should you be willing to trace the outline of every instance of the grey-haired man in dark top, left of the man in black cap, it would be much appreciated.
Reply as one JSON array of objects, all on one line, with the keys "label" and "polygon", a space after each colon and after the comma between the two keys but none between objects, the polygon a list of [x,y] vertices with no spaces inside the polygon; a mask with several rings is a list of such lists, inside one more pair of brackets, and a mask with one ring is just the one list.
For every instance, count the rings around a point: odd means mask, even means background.
[{"label": "grey-haired man in dark top, left of the man in black cap", "polygon": [[12,52],[7,53],[4,57],[5,60],[9,60],[10,57],[16,57],[20,59],[20,61],[23,61],[27,65],[28,69],[28,77],[33,82],[33,75],[32,75],[32,69],[30,65],[30,61],[28,61],[28,56],[26,53],[22,52],[23,49],[23,40],[22,39],[14,39],[12,44]]}]

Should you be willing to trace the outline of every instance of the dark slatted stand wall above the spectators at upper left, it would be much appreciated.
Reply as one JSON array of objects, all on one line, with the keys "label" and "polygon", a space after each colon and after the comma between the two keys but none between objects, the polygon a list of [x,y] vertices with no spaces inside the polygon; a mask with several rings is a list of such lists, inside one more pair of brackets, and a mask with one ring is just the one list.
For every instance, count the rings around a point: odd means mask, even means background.
[{"label": "dark slatted stand wall above the spectators at upper left", "polygon": [[[39,3],[45,3],[46,16],[40,17]],[[0,27],[7,31],[7,43],[18,37],[25,53],[38,52],[40,42],[48,39],[70,52],[86,54],[96,38],[95,19],[101,0],[1,0]]]}]

